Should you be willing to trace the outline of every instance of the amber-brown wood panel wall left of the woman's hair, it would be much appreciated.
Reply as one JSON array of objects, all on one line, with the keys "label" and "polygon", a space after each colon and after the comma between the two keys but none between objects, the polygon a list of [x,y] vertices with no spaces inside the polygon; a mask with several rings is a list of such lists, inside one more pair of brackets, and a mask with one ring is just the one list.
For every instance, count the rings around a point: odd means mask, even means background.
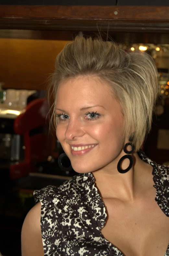
[{"label": "amber-brown wood panel wall left of the woman's hair", "polygon": [[[55,32],[53,32],[55,33]],[[0,38],[3,88],[43,90],[56,55],[68,41]]]}]

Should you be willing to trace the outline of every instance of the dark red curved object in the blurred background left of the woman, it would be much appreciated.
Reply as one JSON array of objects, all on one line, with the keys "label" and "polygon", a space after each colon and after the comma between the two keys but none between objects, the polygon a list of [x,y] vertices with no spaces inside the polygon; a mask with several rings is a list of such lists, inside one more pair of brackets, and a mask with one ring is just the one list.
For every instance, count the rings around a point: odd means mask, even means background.
[{"label": "dark red curved object in the blurred background left of the woman", "polygon": [[[50,154],[48,131],[30,135],[30,131],[49,124],[49,105],[46,99],[31,101],[14,121],[14,131],[24,135],[25,161],[10,165],[10,178],[20,178],[35,172],[34,163],[45,161]],[[44,129],[45,130],[45,129]]]}]

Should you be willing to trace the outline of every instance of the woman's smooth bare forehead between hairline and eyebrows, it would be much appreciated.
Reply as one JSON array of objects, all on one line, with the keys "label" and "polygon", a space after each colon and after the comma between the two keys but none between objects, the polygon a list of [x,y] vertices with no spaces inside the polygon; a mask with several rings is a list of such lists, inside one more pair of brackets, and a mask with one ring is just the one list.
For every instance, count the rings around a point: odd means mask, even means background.
[{"label": "woman's smooth bare forehead between hairline and eyebrows", "polygon": [[111,88],[98,77],[78,77],[67,80],[59,85],[56,105],[69,102],[81,104],[113,101]]}]

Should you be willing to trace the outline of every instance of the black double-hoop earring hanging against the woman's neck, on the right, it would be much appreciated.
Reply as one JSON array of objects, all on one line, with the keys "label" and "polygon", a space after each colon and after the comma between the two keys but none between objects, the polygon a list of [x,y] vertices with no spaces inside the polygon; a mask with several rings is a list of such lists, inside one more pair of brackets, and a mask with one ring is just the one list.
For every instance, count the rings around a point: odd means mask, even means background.
[{"label": "black double-hoop earring hanging against the woman's neck, on the right", "polygon": [[[131,149],[130,151],[127,151],[127,149],[126,149],[126,147],[127,147],[128,145],[132,146],[132,149]],[[135,149],[135,148],[134,148],[134,145],[133,145],[131,142],[128,142],[128,143],[126,143],[126,144],[124,145],[123,150],[124,150],[124,152],[125,152],[127,155],[122,156],[122,157],[120,158],[120,160],[118,161],[117,170],[118,170],[119,173],[126,173],[126,172],[128,172],[128,171],[131,169],[131,167],[132,167],[132,165],[133,165],[133,158],[132,158],[131,155],[128,155],[128,154],[133,153],[134,149]],[[120,167],[120,165],[121,165],[121,162],[122,162],[124,159],[126,159],[126,158],[129,159],[130,164],[129,164],[129,166],[128,166],[125,170],[123,170],[123,169]]]}]

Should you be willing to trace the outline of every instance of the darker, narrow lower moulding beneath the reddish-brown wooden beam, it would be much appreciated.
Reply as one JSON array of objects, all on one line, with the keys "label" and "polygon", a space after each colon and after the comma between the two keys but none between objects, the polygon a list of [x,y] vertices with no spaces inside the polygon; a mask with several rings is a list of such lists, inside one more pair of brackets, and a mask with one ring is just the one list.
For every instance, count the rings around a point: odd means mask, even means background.
[{"label": "darker, narrow lower moulding beneath the reddish-brown wooden beam", "polygon": [[[117,31],[168,33],[169,22],[0,19],[0,30]],[[55,32],[53,32],[55,33]],[[35,33],[34,33],[35,34]],[[70,34],[70,32],[69,32]],[[1,37],[1,36],[0,36]]]}]

